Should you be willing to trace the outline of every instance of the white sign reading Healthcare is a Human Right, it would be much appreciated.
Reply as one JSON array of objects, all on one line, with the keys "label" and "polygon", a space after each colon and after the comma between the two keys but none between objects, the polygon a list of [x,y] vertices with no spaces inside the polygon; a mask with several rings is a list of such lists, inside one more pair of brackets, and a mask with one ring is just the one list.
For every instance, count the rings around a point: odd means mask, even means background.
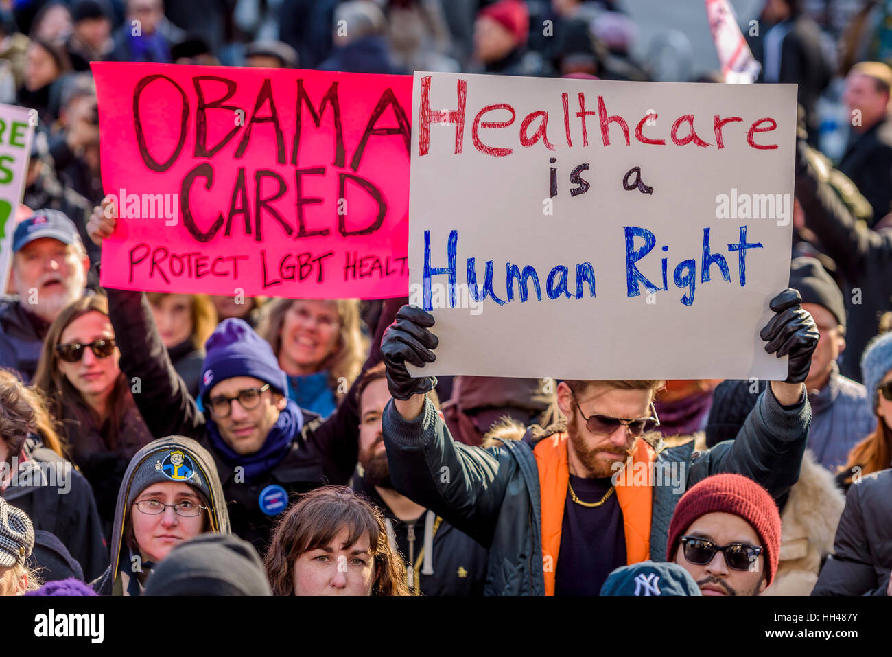
[{"label": "white sign reading Healthcare is a Human Right", "polygon": [[786,378],[759,330],[789,280],[796,106],[794,85],[417,72],[425,372]]}]

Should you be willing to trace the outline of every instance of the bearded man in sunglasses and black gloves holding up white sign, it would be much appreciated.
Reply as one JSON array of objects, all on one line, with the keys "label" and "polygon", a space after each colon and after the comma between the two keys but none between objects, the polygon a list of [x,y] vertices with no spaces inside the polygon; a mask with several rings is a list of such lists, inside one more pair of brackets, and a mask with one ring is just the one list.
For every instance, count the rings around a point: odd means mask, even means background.
[{"label": "bearded man in sunglasses and black gloves holding up white sign", "polygon": [[[669,520],[684,489],[721,472],[756,480],[777,498],[796,483],[811,409],[802,382],[818,332],[796,290],[772,299],[765,351],[789,355],[786,381],[760,395],[737,439],[694,452],[667,447],[653,399],[663,381],[563,381],[567,418],[486,449],[453,441],[406,362],[434,362],[434,318],[403,306],[384,333],[384,445],[393,486],[489,549],[486,595],[598,595],[615,568],[665,561]],[[679,481],[623,470],[675,473]]]}]

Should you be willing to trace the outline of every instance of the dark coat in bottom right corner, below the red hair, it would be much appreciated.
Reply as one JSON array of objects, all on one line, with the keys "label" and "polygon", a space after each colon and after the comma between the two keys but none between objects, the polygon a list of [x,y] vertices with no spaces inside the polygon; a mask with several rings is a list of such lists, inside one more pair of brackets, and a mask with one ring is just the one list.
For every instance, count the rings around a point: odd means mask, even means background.
[{"label": "dark coat in bottom right corner, below the red hair", "polygon": [[848,489],[833,552],[812,595],[886,595],[892,571],[892,470]]}]

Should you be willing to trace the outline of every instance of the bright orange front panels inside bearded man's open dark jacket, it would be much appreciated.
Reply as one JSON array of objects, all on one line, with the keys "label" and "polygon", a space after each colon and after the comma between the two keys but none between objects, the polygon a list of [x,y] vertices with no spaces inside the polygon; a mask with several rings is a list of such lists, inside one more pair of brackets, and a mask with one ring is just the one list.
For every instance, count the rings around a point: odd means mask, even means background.
[{"label": "bright orange front panels inside bearded man's open dark jacket", "polygon": [[[539,441],[533,449],[539,470],[541,492],[541,541],[542,570],[545,577],[545,595],[555,595],[558,554],[560,553],[561,529],[564,523],[564,505],[570,469],[567,461],[569,443],[566,433],[554,433]],[[650,486],[650,464],[657,453],[647,441],[639,440],[632,453],[632,468],[616,478],[616,501],[623,512],[626,563],[638,563],[650,558],[650,520],[653,506],[653,488]],[[648,473],[645,486],[636,486],[638,471]]]}]

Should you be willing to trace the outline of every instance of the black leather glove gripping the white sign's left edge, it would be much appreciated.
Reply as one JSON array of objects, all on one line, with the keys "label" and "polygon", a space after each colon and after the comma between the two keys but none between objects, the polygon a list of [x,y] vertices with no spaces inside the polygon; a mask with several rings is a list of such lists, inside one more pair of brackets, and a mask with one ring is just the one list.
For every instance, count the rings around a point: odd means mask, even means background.
[{"label": "black leather glove gripping the white sign's left edge", "polygon": [[428,328],[434,326],[434,318],[416,306],[404,305],[396,313],[394,321],[381,338],[381,356],[387,372],[387,387],[394,399],[409,399],[412,395],[424,395],[437,385],[436,377],[413,378],[406,370],[406,362],[424,367],[434,362],[440,340]]}]

